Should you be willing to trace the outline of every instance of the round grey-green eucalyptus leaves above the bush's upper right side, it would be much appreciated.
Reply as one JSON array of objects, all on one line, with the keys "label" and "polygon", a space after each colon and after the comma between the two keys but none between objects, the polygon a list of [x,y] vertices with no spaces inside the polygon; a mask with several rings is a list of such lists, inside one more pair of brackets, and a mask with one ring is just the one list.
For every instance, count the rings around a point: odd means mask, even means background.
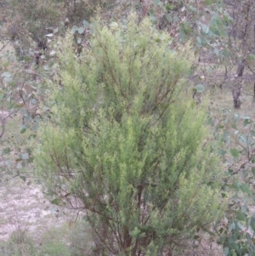
[{"label": "round grey-green eucalyptus leaves above the bush's upper right side", "polygon": [[230,18],[221,1],[156,0],[146,3],[150,3],[147,6],[148,9],[150,7],[150,19],[160,29],[171,32],[175,37],[174,44],[192,39],[196,52],[199,53],[201,48],[208,48],[211,54],[224,58],[219,49],[225,48],[225,24]]}]

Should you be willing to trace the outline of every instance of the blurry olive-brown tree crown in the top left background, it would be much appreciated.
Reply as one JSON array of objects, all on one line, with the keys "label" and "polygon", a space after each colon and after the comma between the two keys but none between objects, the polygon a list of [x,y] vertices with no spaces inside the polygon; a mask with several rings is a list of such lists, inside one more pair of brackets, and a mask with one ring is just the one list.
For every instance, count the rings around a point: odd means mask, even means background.
[{"label": "blurry olive-brown tree crown in the top left background", "polygon": [[[6,31],[14,43],[18,56],[25,57],[33,43],[46,46],[47,28],[59,26],[64,9],[54,1],[8,0],[12,15],[8,17]],[[39,47],[40,48],[40,47]]]}]

